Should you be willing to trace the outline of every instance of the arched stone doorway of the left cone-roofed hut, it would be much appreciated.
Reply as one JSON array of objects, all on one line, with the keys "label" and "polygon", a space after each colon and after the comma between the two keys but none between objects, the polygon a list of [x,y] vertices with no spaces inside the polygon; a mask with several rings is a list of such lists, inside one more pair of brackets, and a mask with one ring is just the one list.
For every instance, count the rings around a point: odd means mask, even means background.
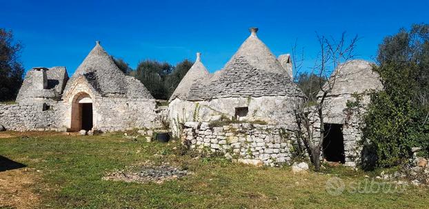
[{"label": "arched stone doorway of the left cone-roofed hut", "polygon": [[72,101],[72,121],[74,131],[91,130],[93,126],[92,99],[86,92],[77,93]]}]

